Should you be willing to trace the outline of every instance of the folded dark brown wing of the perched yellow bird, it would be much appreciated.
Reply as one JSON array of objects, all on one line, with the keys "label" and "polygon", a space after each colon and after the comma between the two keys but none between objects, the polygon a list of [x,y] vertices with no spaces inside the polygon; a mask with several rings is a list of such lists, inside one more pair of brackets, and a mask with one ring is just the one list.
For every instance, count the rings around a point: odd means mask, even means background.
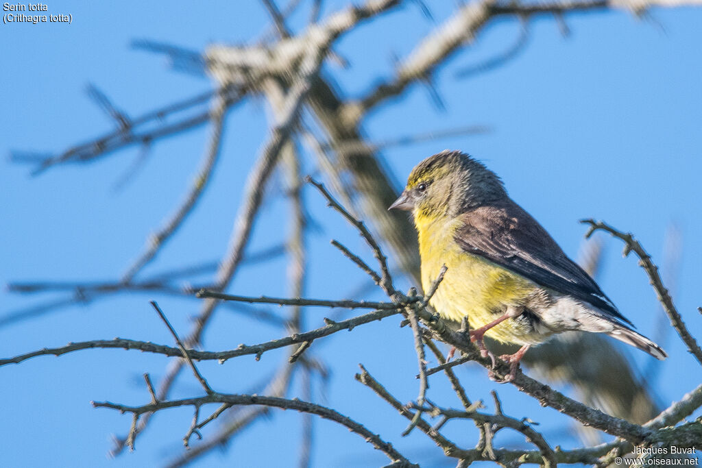
[{"label": "folded dark brown wing of the perched yellow bird", "polygon": [[456,242],[466,251],[510,269],[539,286],[571,295],[633,326],[600,286],[567,257],[541,225],[517,203],[480,206],[461,215]]}]

